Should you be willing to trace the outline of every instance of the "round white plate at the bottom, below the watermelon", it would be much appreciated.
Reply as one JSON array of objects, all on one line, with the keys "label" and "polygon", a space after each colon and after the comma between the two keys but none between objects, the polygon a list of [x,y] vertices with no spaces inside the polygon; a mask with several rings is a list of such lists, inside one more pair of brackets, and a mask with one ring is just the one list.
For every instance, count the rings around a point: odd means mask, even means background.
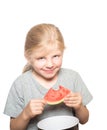
[{"label": "round white plate at the bottom, below the watermelon", "polygon": [[74,116],[53,116],[38,122],[37,127],[42,130],[62,130],[76,126],[78,118]]}]

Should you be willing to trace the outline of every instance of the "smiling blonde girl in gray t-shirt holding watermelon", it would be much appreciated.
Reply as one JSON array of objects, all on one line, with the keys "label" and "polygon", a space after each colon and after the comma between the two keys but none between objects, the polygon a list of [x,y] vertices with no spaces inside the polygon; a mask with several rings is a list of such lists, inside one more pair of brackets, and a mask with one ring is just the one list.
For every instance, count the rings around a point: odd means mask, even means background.
[{"label": "smiling blonde girl in gray t-shirt holding watermelon", "polygon": [[[4,110],[10,116],[11,130],[37,130],[39,120],[55,115],[74,115],[81,124],[88,121],[86,105],[92,95],[77,72],[61,68],[64,49],[63,36],[52,24],[39,24],[28,32],[28,63],[13,82]],[[70,89],[70,94],[63,103],[47,105],[44,95],[59,85]]]}]

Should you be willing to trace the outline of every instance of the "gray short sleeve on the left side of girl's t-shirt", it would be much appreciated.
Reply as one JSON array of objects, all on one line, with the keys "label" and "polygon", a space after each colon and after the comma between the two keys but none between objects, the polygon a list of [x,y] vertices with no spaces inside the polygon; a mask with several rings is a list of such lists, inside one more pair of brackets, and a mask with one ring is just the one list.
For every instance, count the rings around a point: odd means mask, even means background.
[{"label": "gray short sleeve on the left side of girl's t-shirt", "polygon": [[21,113],[23,107],[24,100],[21,87],[18,87],[14,82],[7,97],[4,114],[10,117],[16,117]]}]

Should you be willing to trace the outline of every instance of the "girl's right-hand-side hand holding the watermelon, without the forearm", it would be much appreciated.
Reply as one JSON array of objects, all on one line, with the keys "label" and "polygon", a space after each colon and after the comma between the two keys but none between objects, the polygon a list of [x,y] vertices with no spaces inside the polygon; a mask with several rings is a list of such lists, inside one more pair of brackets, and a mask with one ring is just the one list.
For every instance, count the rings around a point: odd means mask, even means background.
[{"label": "girl's right-hand-side hand holding the watermelon, without the forearm", "polygon": [[75,110],[79,109],[82,105],[82,97],[80,93],[70,92],[65,98],[64,103],[68,107],[73,107]]}]

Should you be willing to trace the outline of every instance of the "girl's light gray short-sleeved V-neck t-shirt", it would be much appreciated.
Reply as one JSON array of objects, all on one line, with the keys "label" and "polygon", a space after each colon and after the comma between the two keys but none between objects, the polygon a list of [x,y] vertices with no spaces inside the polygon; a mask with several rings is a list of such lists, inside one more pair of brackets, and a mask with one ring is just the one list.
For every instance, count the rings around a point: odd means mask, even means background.
[{"label": "girl's light gray short-sleeved V-neck t-shirt", "polygon": [[[87,105],[92,100],[92,95],[80,75],[71,69],[61,68],[58,74],[58,80],[52,87],[58,89],[60,85],[73,92],[80,92],[84,105]],[[44,88],[36,81],[31,70],[23,73],[12,84],[5,105],[4,114],[14,118],[17,117],[31,99],[43,98],[47,91],[48,89]],[[29,122],[27,130],[37,130],[38,121],[56,115],[73,115],[73,110],[72,108],[65,106],[64,103],[46,105],[44,112]]]}]

